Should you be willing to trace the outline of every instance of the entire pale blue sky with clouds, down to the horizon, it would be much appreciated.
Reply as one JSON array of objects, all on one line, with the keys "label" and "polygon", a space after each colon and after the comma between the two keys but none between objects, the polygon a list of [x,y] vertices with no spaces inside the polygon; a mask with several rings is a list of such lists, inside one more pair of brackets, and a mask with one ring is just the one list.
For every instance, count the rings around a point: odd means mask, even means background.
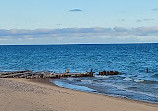
[{"label": "entire pale blue sky with clouds, down to the horizon", "polygon": [[158,0],[0,0],[0,44],[157,43]]}]

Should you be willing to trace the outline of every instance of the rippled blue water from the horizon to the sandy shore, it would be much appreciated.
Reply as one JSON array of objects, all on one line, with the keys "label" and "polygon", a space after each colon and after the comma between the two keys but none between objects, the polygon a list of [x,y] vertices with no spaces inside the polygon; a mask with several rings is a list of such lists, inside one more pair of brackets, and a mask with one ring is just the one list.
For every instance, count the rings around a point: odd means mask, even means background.
[{"label": "rippled blue water from the horizon to the sandy shore", "polygon": [[[60,79],[56,84],[61,87],[158,102],[158,44],[0,46],[0,71],[67,68],[70,72],[92,68],[96,75]],[[103,70],[121,74],[98,76]]]}]

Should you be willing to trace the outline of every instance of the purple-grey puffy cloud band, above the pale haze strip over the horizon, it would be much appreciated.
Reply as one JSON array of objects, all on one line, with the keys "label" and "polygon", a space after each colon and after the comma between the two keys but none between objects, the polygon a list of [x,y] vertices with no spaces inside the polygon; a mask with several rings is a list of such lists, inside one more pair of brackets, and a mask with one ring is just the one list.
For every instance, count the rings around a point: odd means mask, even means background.
[{"label": "purple-grey puffy cloud band, above the pale haze strip over the horizon", "polygon": [[158,35],[158,27],[138,27],[138,28],[123,28],[123,27],[114,27],[114,28],[62,28],[62,29],[36,29],[36,30],[20,30],[20,29],[11,29],[5,30],[0,29],[0,37],[41,37],[45,35],[51,35],[54,37],[66,36],[66,35],[105,35],[105,36],[140,36],[140,35]]}]

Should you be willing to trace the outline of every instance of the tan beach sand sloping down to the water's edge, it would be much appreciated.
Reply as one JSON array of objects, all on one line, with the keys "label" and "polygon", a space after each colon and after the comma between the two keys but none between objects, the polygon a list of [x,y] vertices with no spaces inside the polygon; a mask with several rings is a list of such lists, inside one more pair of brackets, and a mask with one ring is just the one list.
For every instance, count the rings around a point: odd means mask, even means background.
[{"label": "tan beach sand sloping down to the water's edge", "polygon": [[0,111],[158,111],[158,104],[60,88],[47,79],[0,78]]}]

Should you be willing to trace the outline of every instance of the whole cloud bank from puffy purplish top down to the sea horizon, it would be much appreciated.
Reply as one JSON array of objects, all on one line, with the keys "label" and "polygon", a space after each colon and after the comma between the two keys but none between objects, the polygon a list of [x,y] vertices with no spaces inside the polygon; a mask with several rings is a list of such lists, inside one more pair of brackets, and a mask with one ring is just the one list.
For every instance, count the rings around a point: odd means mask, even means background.
[{"label": "whole cloud bank from puffy purplish top down to the sea horizon", "polygon": [[[27,42],[38,44],[51,43],[136,43],[158,42],[158,27],[137,28],[62,28],[20,30],[0,29],[0,44]],[[152,38],[152,39],[151,39]]]}]

